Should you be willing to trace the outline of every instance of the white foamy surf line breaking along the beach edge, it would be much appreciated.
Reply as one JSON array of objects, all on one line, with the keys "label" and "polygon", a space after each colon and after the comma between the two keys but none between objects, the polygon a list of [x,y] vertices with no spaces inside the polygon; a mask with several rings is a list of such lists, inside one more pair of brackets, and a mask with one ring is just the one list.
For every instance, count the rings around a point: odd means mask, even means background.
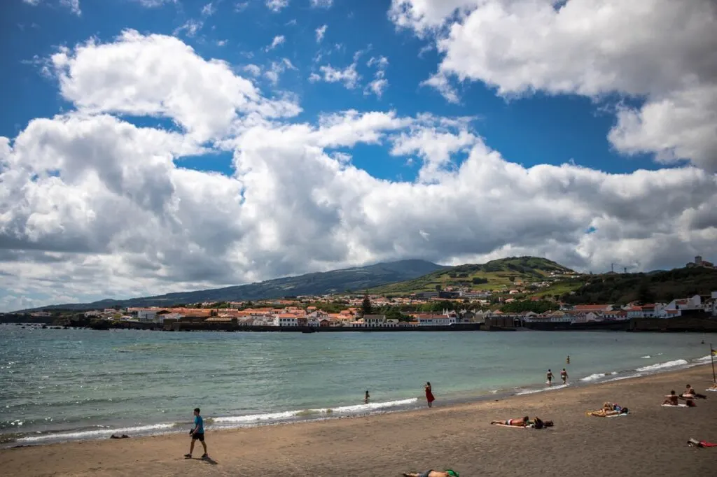
[{"label": "white foamy surf line breaking along the beach edge", "polygon": [[[619,370],[596,373],[569,380],[567,385],[560,382],[548,387],[541,383],[513,386],[497,390],[475,390],[469,393],[442,396],[442,407],[472,405],[495,400],[509,400],[516,397],[554,394],[561,390],[580,390],[604,385],[610,382],[627,382],[640,377],[652,377],[670,373],[684,372],[695,367],[710,364],[709,356],[660,362],[655,365],[638,367],[635,370]],[[559,380],[558,380],[559,381]],[[717,393],[716,393],[717,397]],[[409,413],[424,408],[422,397],[406,397],[389,401],[376,401],[368,404],[345,404],[331,408],[306,408],[293,410],[273,410],[266,413],[246,415],[204,416],[207,432],[224,432],[246,428],[264,428],[275,425],[296,425],[315,423],[324,420],[341,420],[348,418],[364,418],[372,415],[393,413]],[[6,433],[0,434],[0,450],[19,447],[35,447],[62,443],[82,443],[105,440],[110,435],[128,434],[134,438],[146,438],[163,435],[176,435],[185,432],[191,426],[189,420],[174,420],[156,423],[127,423],[125,425],[88,425],[85,428],[57,430],[56,432],[40,433]],[[4,438],[9,436],[13,438]]]}]

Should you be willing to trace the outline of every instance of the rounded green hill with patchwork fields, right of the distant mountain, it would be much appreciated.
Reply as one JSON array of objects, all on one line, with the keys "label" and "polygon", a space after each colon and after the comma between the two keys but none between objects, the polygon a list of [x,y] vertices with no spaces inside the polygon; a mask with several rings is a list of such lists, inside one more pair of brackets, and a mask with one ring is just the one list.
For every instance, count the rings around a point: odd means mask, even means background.
[{"label": "rounded green hill with patchwork fields, right of the distant mountain", "polygon": [[505,289],[511,283],[541,281],[552,274],[574,274],[566,266],[535,256],[513,256],[486,264],[465,264],[432,271],[399,283],[377,286],[374,294],[409,294],[435,291],[436,286],[470,286],[473,289]]}]

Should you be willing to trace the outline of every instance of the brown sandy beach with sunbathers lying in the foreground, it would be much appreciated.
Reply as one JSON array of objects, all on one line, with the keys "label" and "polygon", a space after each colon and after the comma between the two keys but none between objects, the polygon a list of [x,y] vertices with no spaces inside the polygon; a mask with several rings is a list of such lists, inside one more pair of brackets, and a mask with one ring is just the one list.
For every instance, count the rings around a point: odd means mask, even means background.
[{"label": "brown sandy beach with sunbathers lying in the foreground", "polygon": [[[663,395],[711,384],[709,366],[574,387],[498,402],[212,432],[213,462],[182,456],[186,433],[0,450],[4,476],[400,476],[453,468],[471,476],[717,475],[717,392],[696,408],[660,407]],[[632,415],[589,418],[604,401]],[[191,414],[191,410],[189,410]],[[500,428],[490,420],[538,415],[545,430]]]}]

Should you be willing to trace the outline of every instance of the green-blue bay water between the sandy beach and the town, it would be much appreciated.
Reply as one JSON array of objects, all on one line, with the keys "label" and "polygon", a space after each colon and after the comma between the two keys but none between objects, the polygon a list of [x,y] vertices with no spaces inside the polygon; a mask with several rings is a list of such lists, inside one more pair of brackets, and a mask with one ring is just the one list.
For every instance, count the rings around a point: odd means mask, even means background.
[{"label": "green-blue bay water between the sandy beach and the town", "polygon": [[[221,333],[0,325],[0,445],[340,418],[709,360],[707,335],[626,332]],[[571,364],[565,364],[570,355]],[[553,388],[561,386],[555,385]],[[364,403],[369,390],[371,401]]]}]

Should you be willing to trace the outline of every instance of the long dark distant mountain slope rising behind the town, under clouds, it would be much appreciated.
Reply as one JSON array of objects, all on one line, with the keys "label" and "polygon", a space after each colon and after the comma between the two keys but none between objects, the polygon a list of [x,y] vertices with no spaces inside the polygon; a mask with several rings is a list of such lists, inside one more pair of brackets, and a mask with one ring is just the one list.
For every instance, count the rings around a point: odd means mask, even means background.
[{"label": "long dark distant mountain slope rising behind the town, under clouds", "polygon": [[169,293],[125,300],[104,299],[92,303],[51,305],[39,309],[101,309],[120,307],[168,307],[174,304],[272,299],[297,295],[324,295],[346,290],[364,291],[374,286],[414,279],[447,267],[424,260],[402,260],[351,269],[324,271],[226,288]]}]

